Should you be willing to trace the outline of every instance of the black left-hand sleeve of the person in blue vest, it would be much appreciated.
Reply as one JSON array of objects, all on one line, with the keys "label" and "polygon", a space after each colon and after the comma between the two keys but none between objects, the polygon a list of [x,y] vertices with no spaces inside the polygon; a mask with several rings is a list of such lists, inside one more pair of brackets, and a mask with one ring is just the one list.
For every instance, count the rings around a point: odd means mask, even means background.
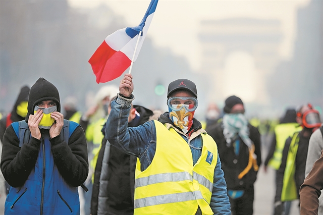
[{"label": "black left-hand sleeve of the person in blue vest", "polygon": [[19,139],[10,125],[5,132],[1,171],[12,187],[24,185],[31,170],[35,167],[41,141],[31,137],[28,143],[19,147]]}]

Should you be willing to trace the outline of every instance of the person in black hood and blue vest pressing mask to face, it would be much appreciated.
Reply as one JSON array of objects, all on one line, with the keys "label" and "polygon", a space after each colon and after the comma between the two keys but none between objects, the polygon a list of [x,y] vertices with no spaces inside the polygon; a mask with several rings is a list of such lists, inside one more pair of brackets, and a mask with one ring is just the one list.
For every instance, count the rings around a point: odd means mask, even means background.
[{"label": "person in black hood and blue vest pressing mask to face", "polygon": [[[83,129],[66,121],[64,137],[59,91],[44,78],[31,87],[27,109],[26,120],[12,123],[3,139],[1,171],[11,186],[5,214],[80,214],[78,186],[88,175]],[[22,128],[30,131],[27,140]]]}]

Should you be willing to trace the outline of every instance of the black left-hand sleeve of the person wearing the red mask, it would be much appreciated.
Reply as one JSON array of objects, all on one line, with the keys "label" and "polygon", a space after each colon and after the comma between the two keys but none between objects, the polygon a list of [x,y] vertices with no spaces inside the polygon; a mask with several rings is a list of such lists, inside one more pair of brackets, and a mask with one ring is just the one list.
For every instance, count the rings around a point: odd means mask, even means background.
[{"label": "black left-hand sleeve of the person wearing the red mask", "polygon": [[285,146],[283,149],[283,155],[282,155],[282,164],[277,171],[275,201],[281,200],[282,190],[283,190],[284,173],[285,173],[286,162],[287,162],[287,155],[288,155],[288,150],[289,150],[289,146],[290,146],[291,142],[292,142],[291,137],[289,137],[285,142]]}]

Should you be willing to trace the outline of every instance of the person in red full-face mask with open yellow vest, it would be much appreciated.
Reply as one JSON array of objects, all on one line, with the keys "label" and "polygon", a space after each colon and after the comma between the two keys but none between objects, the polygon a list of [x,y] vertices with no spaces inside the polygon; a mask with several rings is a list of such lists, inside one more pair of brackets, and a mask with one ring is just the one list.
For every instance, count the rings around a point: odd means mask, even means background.
[{"label": "person in red full-face mask with open yellow vest", "polygon": [[[299,189],[305,179],[309,138],[321,125],[318,111],[310,104],[299,108],[296,121],[303,129],[289,137],[283,149],[282,163],[277,172],[275,214],[282,214],[284,202],[299,199]],[[289,211],[285,210],[285,214]]]}]

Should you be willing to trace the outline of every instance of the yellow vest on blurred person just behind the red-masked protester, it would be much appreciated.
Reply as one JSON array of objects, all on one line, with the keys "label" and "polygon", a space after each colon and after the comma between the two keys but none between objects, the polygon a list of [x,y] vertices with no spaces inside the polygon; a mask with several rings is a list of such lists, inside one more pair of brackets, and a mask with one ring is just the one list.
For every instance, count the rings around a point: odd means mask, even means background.
[{"label": "yellow vest on blurred person just behind the red-masked protester", "polygon": [[283,123],[275,127],[276,148],[273,157],[268,162],[270,167],[275,170],[280,168],[286,139],[300,130],[302,130],[302,127],[298,123]]}]

